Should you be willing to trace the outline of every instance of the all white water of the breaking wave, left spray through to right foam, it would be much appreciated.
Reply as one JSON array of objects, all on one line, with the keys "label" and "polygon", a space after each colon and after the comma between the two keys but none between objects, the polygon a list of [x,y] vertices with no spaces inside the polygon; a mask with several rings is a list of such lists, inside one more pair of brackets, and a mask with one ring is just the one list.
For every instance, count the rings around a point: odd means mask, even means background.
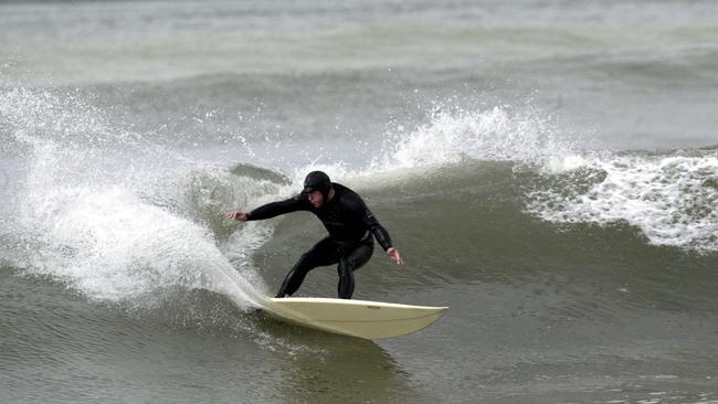
[{"label": "all white water of the breaking wave, left spray through to right foam", "polygon": [[481,181],[490,169],[478,172],[476,163],[498,162],[509,168],[497,171],[509,176],[499,183],[513,187],[489,198],[518,199],[524,213],[516,214],[558,224],[629,223],[651,244],[718,251],[717,149],[581,150],[530,107],[436,108],[414,129],[384,134],[383,151],[368,166],[329,156],[284,169],[165,150],[72,95],[13,89],[0,96],[0,108],[3,140],[24,158],[15,215],[3,223],[3,255],[91,299],[152,306],[180,288],[261,305],[267,287],[253,254],[274,237],[276,222],[237,226],[223,212],[288,196],[314,169],[370,194],[399,184],[450,198],[441,190],[455,176],[458,183]]}]

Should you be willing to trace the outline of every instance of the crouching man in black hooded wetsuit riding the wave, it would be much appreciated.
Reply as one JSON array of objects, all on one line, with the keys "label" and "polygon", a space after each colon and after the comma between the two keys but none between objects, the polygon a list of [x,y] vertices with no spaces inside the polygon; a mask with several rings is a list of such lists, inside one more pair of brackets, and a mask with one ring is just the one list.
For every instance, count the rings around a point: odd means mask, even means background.
[{"label": "crouching man in black hooded wetsuit riding the wave", "polygon": [[304,190],[297,196],[267,203],[250,213],[230,212],[228,216],[246,222],[296,211],[314,213],[327,228],[329,236],[302,255],[287,274],[276,297],[292,296],[309,270],[318,266],[339,264],[339,298],[350,299],[355,285],[352,273],[371,257],[374,237],[389,258],[399,265],[404,264],[397,248],[392,246],[389,233],[379,224],[361,196],[347,187],[331,182],[321,171],[307,174]]}]

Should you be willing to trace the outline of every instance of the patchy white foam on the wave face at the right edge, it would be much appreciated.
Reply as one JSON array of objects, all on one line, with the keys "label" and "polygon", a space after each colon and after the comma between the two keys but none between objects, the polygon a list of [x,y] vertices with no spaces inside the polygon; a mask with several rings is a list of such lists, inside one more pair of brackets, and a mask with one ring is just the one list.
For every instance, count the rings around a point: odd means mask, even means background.
[{"label": "patchy white foam on the wave face at the right edge", "polygon": [[718,251],[718,152],[612,157],[587,167],[602,179],[574,190],[534,191],[529,211],[561,223],[625,221],[652,244]]}]

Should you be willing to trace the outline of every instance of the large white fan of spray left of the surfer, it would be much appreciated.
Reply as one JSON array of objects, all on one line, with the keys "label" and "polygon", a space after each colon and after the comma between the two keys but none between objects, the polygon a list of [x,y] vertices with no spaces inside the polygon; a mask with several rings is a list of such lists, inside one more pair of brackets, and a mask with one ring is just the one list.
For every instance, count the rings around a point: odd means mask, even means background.
[{"label": "large white fan of spray left of the surfer", "polygon": [[[239,270],[228,261],[207,225],[212,217],[198,216],[197,204],[252,198],[266,184],[118,130],[73,94],[13,88],[0,96],[0,113],[4,143],[23,158],[12,232],[33,243],[15,254],[28,272],[105,301],[147,306],[175,289],[197,288],[240,307],[258,305],[265,287],[250,261],[239,263]],[[188,198],[198,171],[234,192]],[[257,228],[245,231],[252,232],[261,237]]]}]

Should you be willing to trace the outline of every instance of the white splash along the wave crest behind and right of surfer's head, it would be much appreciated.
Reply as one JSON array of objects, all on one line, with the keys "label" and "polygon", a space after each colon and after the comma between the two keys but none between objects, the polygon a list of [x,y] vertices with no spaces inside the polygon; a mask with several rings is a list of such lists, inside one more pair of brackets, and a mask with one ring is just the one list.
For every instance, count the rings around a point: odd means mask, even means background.
[{"label": "white splash along the wave crest behind and right of surfer's head", "polygon": [[[313,160],[297,164],[289,177],[292,184],[297,184],[307,172],[321,170],[332,180],[367,190],[412,181],[426,173],[441,176],[444,167],[467,160],[507,161],[542,170],[551,162],[558,164],[559,160],[579,156],[576,142],[557,132],[551,118],[534,108],[440,107],[412,130],[399,126],[383,134],[381,151],[367,157],[370,163],[366,168],[341,160]],[[285,194],[291,190],[292,185]]]}]

